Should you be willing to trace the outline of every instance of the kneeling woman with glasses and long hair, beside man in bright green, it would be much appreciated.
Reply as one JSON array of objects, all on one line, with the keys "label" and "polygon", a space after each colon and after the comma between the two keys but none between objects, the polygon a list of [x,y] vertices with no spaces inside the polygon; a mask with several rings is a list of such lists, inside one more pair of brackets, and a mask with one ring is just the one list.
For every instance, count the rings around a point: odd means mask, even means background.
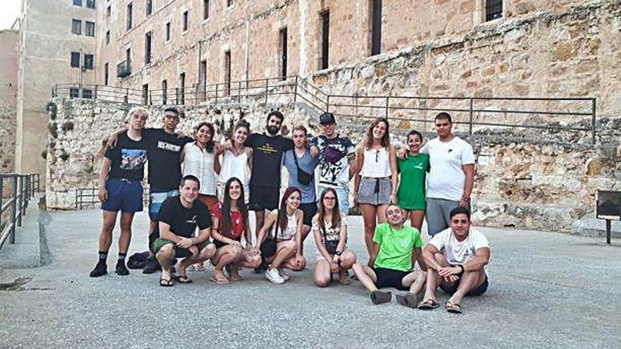
[{"label": "kneeling woman with glasses and long hair, beside man in bright green", "polygon": [[333,188],[325,188],[319,201],[319,212],[313,217],[313,233],[317,244],[314,280],[319,287],[328,286],[332,274],[339,273],[339,283],[349,283],[345,272],[356,263],[356,255],[349,250],[347,216],[339,212],[339,199]]}]

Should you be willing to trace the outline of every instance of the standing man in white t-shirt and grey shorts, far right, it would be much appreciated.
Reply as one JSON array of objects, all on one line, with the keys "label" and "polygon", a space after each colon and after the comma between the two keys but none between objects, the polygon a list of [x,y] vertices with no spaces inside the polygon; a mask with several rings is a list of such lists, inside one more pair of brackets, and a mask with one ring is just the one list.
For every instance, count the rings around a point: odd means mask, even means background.
[{"label": "standing man in white t-shirt and grey shorts, far right", "polygon": [[470,209],[474,184],[474,152],[465,140],[452,134],[448,113],[435,116],[438,137],[421,149],[429,154],[427,176],[427,232],[433,236],[449,226],[449,212],[455,207]]}]

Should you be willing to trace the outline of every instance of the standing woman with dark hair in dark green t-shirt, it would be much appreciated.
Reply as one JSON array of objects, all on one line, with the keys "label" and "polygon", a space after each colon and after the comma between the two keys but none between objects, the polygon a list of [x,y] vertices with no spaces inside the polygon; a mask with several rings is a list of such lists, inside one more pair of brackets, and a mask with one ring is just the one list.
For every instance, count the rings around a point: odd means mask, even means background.
[{"label": "standing woman with dark hair in dark green t-shirt", "polygon": [[411,130],[407,142],[405,158],[397,159],[397,169],[401,174],[397,201],[399,207],[409,212],[411,226],[421,231],[427,209],[425,183],[430,169],[429,154],[419,152],[423,146],[423,135],[420,132]]}]

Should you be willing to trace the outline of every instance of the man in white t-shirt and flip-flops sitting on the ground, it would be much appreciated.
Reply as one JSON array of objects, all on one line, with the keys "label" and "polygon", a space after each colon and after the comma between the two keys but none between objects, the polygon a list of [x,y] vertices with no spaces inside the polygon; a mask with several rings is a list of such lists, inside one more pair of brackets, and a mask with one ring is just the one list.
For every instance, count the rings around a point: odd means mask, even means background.
[{"label": "man in white t-shirt and flip-flops sitting on the ground", "polygon": [[451,227],[436,234],[423,250],[427,284],[418,309],[435,309],[435,290],[440,286],[452,295],[447,312],[462,312],[462,298],[482,295],[488,289],[485,266],[490,262],[490,244],[479,231],[470,228],[470,212],[456,207],[450,212]]}]

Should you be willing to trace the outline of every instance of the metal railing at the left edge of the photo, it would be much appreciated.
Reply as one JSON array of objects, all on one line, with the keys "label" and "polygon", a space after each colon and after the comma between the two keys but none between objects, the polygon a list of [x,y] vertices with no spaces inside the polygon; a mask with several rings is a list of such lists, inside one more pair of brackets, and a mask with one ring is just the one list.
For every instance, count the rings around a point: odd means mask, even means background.
[{"label": "metal railing at the left edge of the photo", "polygon": [[28,202],[39,191],[39,174],[0,174],[0,249],[6,240],[15,243],[16,228],[22,225]]}]

